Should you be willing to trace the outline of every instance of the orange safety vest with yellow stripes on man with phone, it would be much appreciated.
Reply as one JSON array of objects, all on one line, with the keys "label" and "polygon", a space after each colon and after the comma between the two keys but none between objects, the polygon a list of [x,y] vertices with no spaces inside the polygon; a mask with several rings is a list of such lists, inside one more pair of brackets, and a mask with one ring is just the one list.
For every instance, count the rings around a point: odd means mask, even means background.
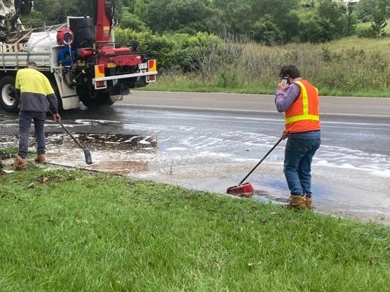
[{"label": "orange safety vest with yellow stripes on man with phone", "polygon": [[318,90],[304,79],[294,82],[300,87],[300,96],[284,113],[285,131],[300,133],[320,130]]}]

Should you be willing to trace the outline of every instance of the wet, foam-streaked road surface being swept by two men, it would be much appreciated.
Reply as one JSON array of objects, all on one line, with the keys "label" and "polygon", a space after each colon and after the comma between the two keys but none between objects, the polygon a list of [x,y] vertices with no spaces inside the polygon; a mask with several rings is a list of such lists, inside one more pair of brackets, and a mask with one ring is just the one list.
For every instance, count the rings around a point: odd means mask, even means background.
[{"label": "wet, foam-streaked road surface being swept by two men", "polygon": [[[247,109],[241,97],[238,105],[220,110],[210,109],[213,103],[208,99],[201,106],[184,102],[186,108],[180,109],[142,104],[149,100],[143,94],[135,92],[127,102],[102,111],[63,113],[63,123],[90,149],[91,169],[224,193],[241,181],[283,130],[280,114],[265,106],[260,111]],[[357,106],[361,101],[366,102],[357,99]],[[268,97],[265,104],[271,109]],[[385,106],[371,114],[334,109],[323,114],[323,143],[313,162],[318,211],[390,223],[390,116],[382,110]],[[0,145],[17,144],[17,129],[17,116],[0,110]],[[86,167],[82,151],[58,125],[49,122],[46,133],[48,160]],[[257,190],[256,200],[288,199],[284,145],[248,179]]]}]

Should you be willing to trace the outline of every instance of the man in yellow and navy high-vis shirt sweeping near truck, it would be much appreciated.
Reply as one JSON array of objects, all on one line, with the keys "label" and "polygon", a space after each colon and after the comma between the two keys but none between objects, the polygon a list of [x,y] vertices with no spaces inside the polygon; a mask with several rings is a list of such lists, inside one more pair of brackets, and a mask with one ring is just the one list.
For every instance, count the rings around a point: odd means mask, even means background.
[{"label": "man in yellow and navy high-vis shirt sweeping near truck", "polygon": [[19,112],[19,152],[15,158],[13,169],[19,170],[27,166],[27,151],[29,147],[29,128],[34,120],[36,137],[35,162],[45,163],[46,137],[44,126],[46,112],[53,113],[55,121],[61,120],[58,114],[58,101],[50,81],[36,70],[35,62],[27,62],[27,68],[20,69],[16,74],[15,93],[20,98]]}]

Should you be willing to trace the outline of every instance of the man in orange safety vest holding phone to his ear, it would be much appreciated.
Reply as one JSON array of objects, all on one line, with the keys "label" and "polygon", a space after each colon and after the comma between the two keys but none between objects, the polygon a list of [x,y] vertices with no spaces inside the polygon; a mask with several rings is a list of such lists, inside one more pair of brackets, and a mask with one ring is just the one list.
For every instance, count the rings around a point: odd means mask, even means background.
[{"label": "man in orange safety vest holding phone to his ear", "polygon": [[321,144],[318,90],[301,78],[295,66],[281,68],[275,93],[278,112],[284,112],[285,145],[283,172],[290,189],[289,207],[312,209],[311,161]]}]

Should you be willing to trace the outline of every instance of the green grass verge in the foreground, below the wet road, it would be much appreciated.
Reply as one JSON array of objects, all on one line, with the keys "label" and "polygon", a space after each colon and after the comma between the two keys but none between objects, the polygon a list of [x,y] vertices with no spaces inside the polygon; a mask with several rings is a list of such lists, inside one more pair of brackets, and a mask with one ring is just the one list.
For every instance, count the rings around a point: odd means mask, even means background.
[{"label": "green grass verge in the foreground, below the wet road", "polygon": [[387,291],[390,230],[150,181],[0,176],[0,291]]}]

